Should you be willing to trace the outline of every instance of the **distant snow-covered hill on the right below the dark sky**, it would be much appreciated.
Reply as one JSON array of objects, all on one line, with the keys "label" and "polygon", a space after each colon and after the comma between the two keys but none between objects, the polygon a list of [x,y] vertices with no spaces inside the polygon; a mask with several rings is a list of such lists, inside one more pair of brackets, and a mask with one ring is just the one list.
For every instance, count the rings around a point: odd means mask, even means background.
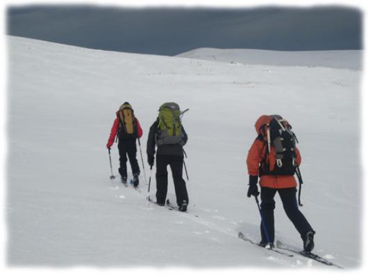
[{"label": "distant snow-covered hill on the right below the dark sky", "polygon": [[182,58],[265,64],[275,66],[331,67],[362,69],[362,51],[268,51],[254,49],[200,48],[176,55]]}]

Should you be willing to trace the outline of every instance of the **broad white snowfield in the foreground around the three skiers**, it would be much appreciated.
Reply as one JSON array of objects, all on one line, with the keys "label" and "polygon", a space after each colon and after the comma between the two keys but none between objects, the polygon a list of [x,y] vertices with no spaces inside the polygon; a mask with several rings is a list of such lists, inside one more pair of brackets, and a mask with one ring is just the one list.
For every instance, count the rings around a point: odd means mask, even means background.
[{"label": "broad white snowfield in the foreground around the three skiers", "polygon": [[[9,266],[338,269],[237,238],[242,231],[260,239],[256,202],[246,198],[246,154],[262,114],[283,115],[299,137],[301,210],[317,231],[315,253],[345,268],[362,264],[361,71],[117,53],[10,36],[8,61]],[[147,205],[142,166],[142,193],[109,179],[106,141],[124,101],[144,130],[147,181],[147,134],[158,107],[176,101],[190,108],[183,117],[187,214]],[[137,157],[141,163],[139,151]],[[117,167],[114,144],[115,175]],[[168,198],[175,202],[170,175]],[[276,239],[301,248],[278,196],[275,212]]]}]

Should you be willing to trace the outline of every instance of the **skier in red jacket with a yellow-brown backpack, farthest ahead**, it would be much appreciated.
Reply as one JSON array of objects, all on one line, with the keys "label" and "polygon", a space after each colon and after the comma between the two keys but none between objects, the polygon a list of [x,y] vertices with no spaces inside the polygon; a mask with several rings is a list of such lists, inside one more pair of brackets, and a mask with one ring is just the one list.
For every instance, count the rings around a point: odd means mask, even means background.
[{"label": "skier in red jacket with a yellow-brown backpack, farthest ahead", "polygon": [[117,117],[112,124],[110,137],[106,148],[111,148],[114,144],[115,137],[118,138],[117,148],[119,149],[119,174],[122,176],[122,182],[126,183],[127,171],[126,161],[127,155],[131,163],[133,173],[133,184],[135,187],[140,183],[140,166],[137,162],[137,146],[136,139],[142,137],[143,131],[140,126],[140,121],[134,116],[133,108],[128,102],[125,102],[119,107],[116,112]]}]

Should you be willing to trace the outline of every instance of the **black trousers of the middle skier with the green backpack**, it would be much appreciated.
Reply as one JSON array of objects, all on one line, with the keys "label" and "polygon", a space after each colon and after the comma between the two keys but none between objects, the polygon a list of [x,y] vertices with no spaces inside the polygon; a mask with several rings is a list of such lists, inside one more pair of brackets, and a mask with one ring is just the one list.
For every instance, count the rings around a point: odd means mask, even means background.
[{"label": "black trousers of the middle skier with the green backpack", "polygon": [[167,196],[167,165],[172,169],[174,180],[176,203],[183,204],[183,200],[188,201],[187,187],[183,180],[184,157],[179,155],[156,155],[156,200],[165,203]]}]

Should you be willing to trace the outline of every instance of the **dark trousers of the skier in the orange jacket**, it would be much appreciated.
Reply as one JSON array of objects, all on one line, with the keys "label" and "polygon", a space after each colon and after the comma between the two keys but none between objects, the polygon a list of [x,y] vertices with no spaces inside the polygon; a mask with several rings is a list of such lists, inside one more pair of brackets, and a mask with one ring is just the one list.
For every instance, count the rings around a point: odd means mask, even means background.
[{"label": "dark trousers of the skier in the orange jacket", "polygon": [[[260,189],[260,199],[262,200],[260,209],[262,212],[262,216],[264,218],[264,222],[267,229],[267,234],[269,236],[269,242],[273,243],[275,240],[275,225],[274,225],[274,209],[275,209],[275,200],[274,196],[278,191],[280,195],[281,201],[283,202],[283,207],[287,217],[292,221],[296,230],[298,230],[299,234],[303,236],[308,231],[312,230],[312,227],[308,223],[307,219],[301,212],[299,211],[298,204],[296,202],[296,189],[288,188],[288,189],[271,189],[267,187],[261,187]],[[267,236],[265,234],[265,230],[262,227],[262,223],[260,225],[260,232],[262,236],[262,242],[267,242]]]}]

